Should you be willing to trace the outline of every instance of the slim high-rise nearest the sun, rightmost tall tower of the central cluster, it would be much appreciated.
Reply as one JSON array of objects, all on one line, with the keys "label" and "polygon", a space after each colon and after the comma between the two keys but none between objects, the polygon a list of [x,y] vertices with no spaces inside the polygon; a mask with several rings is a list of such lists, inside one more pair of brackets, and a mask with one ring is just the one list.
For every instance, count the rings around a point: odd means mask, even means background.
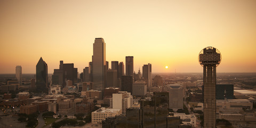
[{"label": "slim high-rise nearest the sun, rightmost tall tower of the central cluster", "polygon": [[147,90],[149,91],[150,87],[152,86],[152,78],[151,78],[151,64],[143,65],[142,67],[142,77],[147,82]]}]

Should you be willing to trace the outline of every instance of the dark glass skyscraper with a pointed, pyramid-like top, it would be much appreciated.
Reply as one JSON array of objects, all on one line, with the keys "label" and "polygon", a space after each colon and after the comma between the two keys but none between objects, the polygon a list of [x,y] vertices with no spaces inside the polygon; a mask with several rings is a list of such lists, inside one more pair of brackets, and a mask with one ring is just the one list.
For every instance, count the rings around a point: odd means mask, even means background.
[{"label": "dark glass skyscraper with a pointed, pyramid-like top", "polygon": [[47,63],[42,59],[39,59],[36,65],[36,88],[40,91],[46,91],[48,87],[48,68]]}]

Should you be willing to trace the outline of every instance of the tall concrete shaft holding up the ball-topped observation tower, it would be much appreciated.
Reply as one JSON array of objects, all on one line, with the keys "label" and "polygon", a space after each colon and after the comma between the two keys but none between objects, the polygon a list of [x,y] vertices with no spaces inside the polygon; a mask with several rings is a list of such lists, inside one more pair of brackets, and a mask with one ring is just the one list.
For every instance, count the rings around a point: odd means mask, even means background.
[{"label": "tall concrete shaft holding up the ball-topped observation tower", "polygon": [[204,65],[204,127],[216,125],[216,65]]}]

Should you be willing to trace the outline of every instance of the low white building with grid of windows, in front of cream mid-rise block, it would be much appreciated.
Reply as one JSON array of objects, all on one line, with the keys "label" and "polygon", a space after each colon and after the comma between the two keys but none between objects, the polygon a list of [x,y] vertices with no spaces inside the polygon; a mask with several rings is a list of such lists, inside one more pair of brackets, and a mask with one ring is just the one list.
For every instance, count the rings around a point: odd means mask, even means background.
[{"label": "low white building with grid of windows, in front of cream mid-rise block", "polygon": [[121,109],[99,108],[92,112],[92,123],[102,123],[107,117],[115,117],[121,114]]}]

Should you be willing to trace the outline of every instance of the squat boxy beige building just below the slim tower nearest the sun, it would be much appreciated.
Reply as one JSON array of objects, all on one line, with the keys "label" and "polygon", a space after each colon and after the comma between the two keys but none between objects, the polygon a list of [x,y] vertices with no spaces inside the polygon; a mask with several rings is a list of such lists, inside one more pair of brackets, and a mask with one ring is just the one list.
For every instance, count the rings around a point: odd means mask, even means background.
[{"label": "squat boxy beige building just below the slim tower nearest the sun", "polygon": [[147,94],[147,84],[145,81],[135,81],[132,85],[132,95],[144,96]]}]

